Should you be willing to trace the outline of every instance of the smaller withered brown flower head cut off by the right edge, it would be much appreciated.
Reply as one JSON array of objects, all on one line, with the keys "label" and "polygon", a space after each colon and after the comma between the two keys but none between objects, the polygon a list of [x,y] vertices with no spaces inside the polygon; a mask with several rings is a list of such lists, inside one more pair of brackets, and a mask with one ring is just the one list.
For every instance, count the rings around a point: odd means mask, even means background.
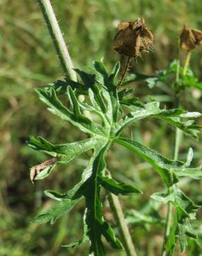
[{"label": "smaller withered brown flower head cut off by the right edge", "polygon": [[190,51],[199,44],[202,44],[202,31],[189,28],[187,25],[183,27],[181,32],[181,49]]}]

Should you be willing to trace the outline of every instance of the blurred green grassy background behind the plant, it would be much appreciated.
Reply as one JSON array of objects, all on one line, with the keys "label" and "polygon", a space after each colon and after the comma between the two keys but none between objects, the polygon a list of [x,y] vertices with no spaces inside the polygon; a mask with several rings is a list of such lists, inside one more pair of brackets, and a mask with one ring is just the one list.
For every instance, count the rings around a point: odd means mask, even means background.
[{"label": "blurred green grassy background behind the plant", "polygon": [[[113,37],[119,21],[144,17],[154,33],[154,53],[144,54],[136,60],[130,72],[154,74],[165,68],[174,57],[178,35],[183,24],[202,30],[201,0],[55,0],[53,8],[64,33],[65,42],[75,67],[90,66],[93,60],[104,57],[108,68],[124,59],[113,50]],[[39,102],[35,87],[45,86],[63,76],[44,19],[35,0],[0,1],[0,255],[1,256],[63,256],[87,255],[87,246],[66,251],[67,244],[82,237],[82,204],[77,205],[68,216],[59,219],[53,226],[31,224],[40,209],[53,202],[43,191],[55,189],[66,191],[72,188],[86,165],[87,155],[71,165],[57,168],[46,180],[35,186],[29,180],[29,168],[45,161],[47,156],[30,149],[26,137],[44,136],[52,143],[68,143],[84,138],[84,134],[70,124],[58,120]],[[181,53],[183,62],[185,53]],[[191,66],[202,80],[202,46],[194,50]],[[136,95],[147,100],[156,95],[166,99],[159,88],[150,90],[146,84],[133,84]],[[170,106],[172,104],[167,102]],[[202,111],[201,91],[190,89],[183,94],[183,107],[189,111]],[[139,122],[128,131],[129,136],[158,150],[165,156],[173,156],[174,129],[161,122]],[[193,147],[194,165],[201,163],[201,146],[190,138],[183,140],[180,151],[185,160],[188,147]],[[113,147],[109,156],[109,168],[119,181],[138,184],[143,196],[127,196],[121,203],[127,209],[140,210],[148,206],[149,196],[163,188],[161,180],[149,165],[123,149]],[[121,161],[120,161],[121,159]],[[201,182],[185,182],[187,192],[196,204],[202,205]],[[149,207],[149,206],[148,206]],[[104,214],[109,221],[113,217],[109,205]],[[165,216],[165,208],[160,208]],[[198,214],[198,227],[202,225],[202,212]],[[160,253],[163,232],[160,225],[130,224],[131,235],[140,256],[156,256]],[[125,255],[107,248],[109,255]],[[202,250],[190,241],[190,250],[183,255],[202,255]],[[178,254],[176,254],[178,255]]]}]

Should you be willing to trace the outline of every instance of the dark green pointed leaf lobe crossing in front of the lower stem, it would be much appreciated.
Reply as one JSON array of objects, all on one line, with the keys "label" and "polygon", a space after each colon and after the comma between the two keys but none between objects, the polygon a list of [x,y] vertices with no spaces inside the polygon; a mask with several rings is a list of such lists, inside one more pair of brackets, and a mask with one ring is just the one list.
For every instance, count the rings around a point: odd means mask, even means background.
[{"label": "dark green pointed leaf lobe crossing in front of the lower stem", "polygon": [[143,194],[143,192],[132,185],[128,185],[127,183],[118,183],[117,181],[108,177],[98,176],[98,181],[103,188],[116,195]]}]

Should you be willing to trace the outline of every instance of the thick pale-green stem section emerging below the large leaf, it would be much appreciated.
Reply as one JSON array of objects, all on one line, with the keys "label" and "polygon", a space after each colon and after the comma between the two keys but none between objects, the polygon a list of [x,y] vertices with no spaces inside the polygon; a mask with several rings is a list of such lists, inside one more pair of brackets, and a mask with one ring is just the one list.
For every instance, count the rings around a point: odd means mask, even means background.
[{"label": "thick pale-green stem section emerging below the large leaf", "polygon": [[[111,177],[111,174],[108,172],[108,176]],[[109,204],[113,212],[113,216],[116,220],[118,228],[120,229],[120,235],[122,237],[122,243],[124,244],[127,256],[137,256],[134,243],[129,232],[129,228],[125,221],[124,214],[120,205],[118,196],[109,193]]]}]

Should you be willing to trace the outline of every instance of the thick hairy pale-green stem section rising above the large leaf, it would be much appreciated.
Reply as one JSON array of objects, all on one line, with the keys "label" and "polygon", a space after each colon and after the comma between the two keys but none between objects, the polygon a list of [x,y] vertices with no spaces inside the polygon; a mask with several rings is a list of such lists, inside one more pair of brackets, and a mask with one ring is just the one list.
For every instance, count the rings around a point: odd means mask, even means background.
[{"label": "thick hairy pale-green stem section rising above the large leaf", "polygon": [[42,14],[44,15],[44,19],[48,26],[50,36],[53,39],[53,44],[55,45],[55,49],[57,51],[57,55],[59,57],[59,61],[62,65],[65,75],[71,80],[77,81],[77,75],[73,70],[73,63],[71,61],[71,57],[68,53],[68,49],[66,48],[64,38],[57,23],[57,19],[55,17],[55,13],[50,4],[50,1],[38,0],[38,3],[42,10]]}]

